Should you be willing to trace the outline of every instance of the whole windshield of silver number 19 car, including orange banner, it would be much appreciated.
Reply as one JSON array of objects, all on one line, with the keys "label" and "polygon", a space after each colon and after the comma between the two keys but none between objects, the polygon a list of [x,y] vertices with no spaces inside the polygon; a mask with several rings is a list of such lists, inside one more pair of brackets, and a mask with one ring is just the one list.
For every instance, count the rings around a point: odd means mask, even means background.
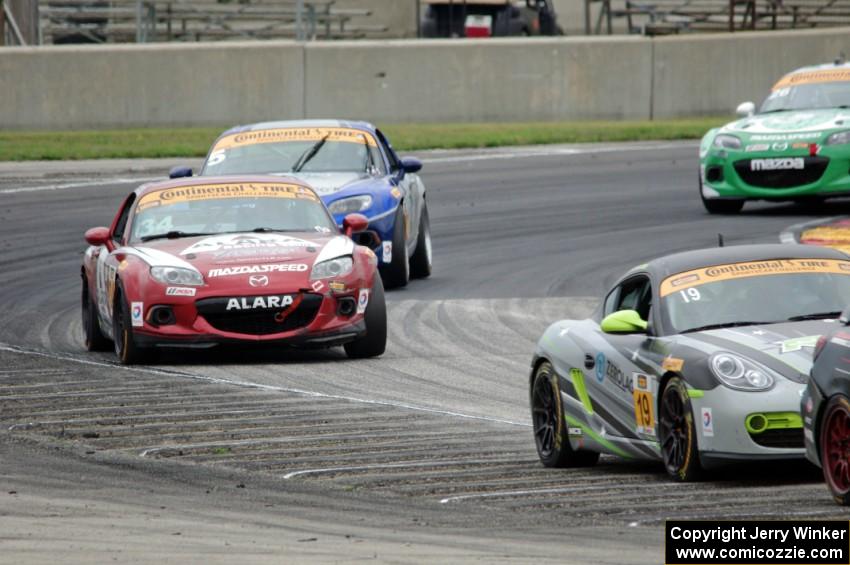
[{"label": "whole windshield of silver number 19 car, including orange banner", "polygon": [[837,318],[850,305],[850,262],[781,259],[678,273],[659,291],[674,333],[742,322]]}]

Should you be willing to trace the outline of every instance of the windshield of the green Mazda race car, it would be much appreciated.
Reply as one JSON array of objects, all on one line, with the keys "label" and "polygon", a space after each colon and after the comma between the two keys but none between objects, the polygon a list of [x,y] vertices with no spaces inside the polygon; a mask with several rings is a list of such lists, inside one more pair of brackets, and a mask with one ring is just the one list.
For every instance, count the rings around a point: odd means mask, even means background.
[{"label": "windshield of the green Mazda race car", "polygon": [[760,113],[850,107],[850,69],[805,71],[783,77],[762,103]]}]

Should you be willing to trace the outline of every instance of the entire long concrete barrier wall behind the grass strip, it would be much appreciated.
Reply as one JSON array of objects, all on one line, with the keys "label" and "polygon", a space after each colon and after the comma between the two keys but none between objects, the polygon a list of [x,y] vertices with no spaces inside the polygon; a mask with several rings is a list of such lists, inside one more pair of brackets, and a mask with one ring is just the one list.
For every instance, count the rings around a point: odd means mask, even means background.
[{"label": "entire long concrete barrier wall behind the grass strip", "polygon": [[0,128],[723,115],[850,29],[649,39],[287,41],[0,49]]}]

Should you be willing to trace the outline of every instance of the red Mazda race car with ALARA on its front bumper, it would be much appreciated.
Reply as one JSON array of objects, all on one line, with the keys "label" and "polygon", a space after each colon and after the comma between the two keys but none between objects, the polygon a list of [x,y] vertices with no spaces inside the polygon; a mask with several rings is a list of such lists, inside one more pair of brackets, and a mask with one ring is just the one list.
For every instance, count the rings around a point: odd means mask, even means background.
[{"label": "red Mazda race car with ALARA on its front bumper", "polygon": [[384,352],[377,259],[316,193],[286,177],[202,177],[140,186],[109,228],[86,232],[86,348],[122,363],[155,347],[274,342]]}]

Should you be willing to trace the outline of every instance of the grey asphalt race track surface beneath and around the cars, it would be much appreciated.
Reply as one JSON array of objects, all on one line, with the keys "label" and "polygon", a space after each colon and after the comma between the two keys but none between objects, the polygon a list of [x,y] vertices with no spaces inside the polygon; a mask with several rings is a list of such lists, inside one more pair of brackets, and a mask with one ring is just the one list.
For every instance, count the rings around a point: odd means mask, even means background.
[{"label": "grey asphalt race track surface beneath and around the cars", "polygon": [[171,163],[0,166],[0,561],[657,563],[667,518],[846,519],[804,464],[544,469],[527,400],[543,329],[627,268],[846,202],[710,216],[693,142],[423,157],[434,273],[388,292],[383,357],[130,369],[82,350],[82,233]]}]

